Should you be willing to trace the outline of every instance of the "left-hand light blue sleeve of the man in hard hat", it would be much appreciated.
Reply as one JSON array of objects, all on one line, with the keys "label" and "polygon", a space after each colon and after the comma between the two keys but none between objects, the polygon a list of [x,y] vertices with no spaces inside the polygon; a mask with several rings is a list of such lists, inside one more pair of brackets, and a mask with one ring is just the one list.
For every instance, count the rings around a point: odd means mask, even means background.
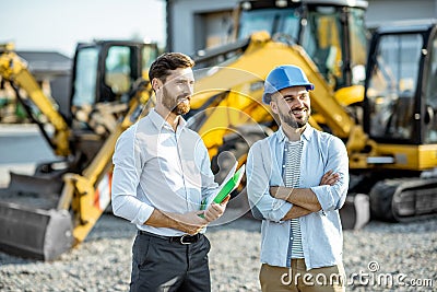
[{"label": "left-hand light blue sleeve of the man in hard hat", "polygon": [[247,195],[251,208],[256,208],[263,219],[280,222],[292,208],[292,203],[270,196],[274,164],[271,156],[263,153],[269,151],[262,151],[264,142],[258,141],[249,150],[246,170]]}]

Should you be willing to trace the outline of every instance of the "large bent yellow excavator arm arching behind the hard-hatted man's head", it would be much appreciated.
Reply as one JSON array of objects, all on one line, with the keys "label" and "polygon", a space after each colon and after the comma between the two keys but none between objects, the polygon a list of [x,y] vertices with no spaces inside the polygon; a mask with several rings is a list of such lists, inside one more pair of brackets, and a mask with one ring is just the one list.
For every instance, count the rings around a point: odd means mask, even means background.
[{"label": "large bent yellow excavator arm arching behind the hard-hatted man's head", "polygon": [[[300,67],[315,84],[312,112],[323,117],[323,127],[347,140],[351,154],[369,143],[362,127],[334,98],[332,89],[300,46],[275,42],[268,33],[260,32],[252,34],[248,45],[237,49],[243,52],[238,52],[240,56],[235,61],[197,72],[201,78],[197,81],[192,101],[191,127],[203,137],[212,156],[221,152],[223,137],[235,133],[241,125],[275,122],[275,117],[261,101],[263,80],[270,70],[284,63]],[[318,129],[322,127],[316,119],[310,119],[310,124]]]}]

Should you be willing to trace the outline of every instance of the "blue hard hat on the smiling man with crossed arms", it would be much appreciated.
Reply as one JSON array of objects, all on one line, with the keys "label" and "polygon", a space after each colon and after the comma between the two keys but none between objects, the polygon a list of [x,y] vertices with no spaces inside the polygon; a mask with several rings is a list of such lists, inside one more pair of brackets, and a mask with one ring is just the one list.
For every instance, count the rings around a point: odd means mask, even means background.
[{"label": "blue hard hat on the smiling man with crossed arms", "polygon": [[262,102],[270,104],[273,93],[280,90],[293,86],[305,86],[307,91],[315,89],[305,75],[304,71],[292,65],[283,65],[270,71],[264,82],[264,94],[262,94]]}]

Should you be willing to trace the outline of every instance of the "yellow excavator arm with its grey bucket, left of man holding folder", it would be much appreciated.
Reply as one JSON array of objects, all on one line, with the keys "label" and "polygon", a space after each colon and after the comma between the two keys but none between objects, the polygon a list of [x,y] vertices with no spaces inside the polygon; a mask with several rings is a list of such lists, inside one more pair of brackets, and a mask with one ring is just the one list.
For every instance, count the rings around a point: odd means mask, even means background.
[{"label": "yellow excavator arm with its grey bucket, left of man holding folder", "polygon": [[66,173],[56,194],[0,189],[0,249],[22,257],[51,260],[85,240],[110,202],[111,156],[121,132],[154,105],[141,87],[129,112],[107,137],[82,173]]}]

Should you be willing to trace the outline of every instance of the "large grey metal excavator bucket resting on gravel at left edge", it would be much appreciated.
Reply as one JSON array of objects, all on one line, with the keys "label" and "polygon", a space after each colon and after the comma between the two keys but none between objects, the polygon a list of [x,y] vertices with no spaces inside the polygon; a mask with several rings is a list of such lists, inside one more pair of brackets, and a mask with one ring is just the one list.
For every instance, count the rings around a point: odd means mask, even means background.
[{"label": "large grey metal excavator bucket resting on gravel at left edge", "polygon": [[52,260],[70,249],[72,219],[57,210],[59,194],[60,185],[46,178],[11,174],[9,187],[0,189],[0,250]]}]

